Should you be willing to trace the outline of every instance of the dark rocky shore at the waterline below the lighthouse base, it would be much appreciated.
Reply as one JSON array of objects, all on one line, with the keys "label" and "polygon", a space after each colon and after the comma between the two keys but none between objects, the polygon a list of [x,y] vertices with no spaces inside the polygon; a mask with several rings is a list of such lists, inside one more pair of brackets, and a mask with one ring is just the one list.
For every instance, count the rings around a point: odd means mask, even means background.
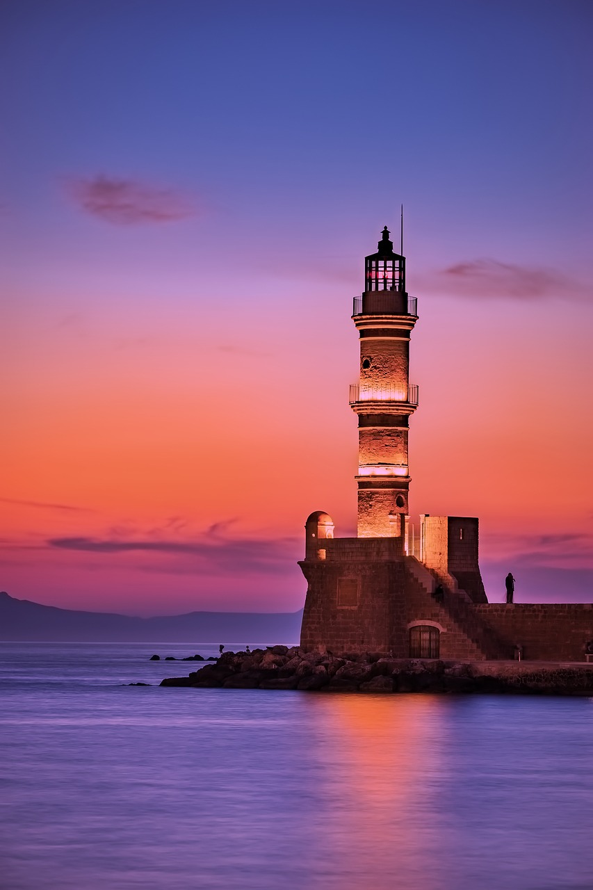
[{"label": "dark rocky shore at the waterline below the lighthouse base", "polygon": [[593,664],[394,659],[384,652],[305,652],[298,646],[224,652],[161,686],[308,692],[511,692],[593,696]]}]

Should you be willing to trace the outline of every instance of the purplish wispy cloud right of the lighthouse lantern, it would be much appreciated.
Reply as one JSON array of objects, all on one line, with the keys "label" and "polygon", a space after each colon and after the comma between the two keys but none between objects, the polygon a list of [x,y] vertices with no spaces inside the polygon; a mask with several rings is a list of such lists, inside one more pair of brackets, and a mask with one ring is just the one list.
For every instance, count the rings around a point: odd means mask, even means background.
[{"label": "purplish wispy cloud right of the lighthouse lantern", "polygon": [[455,263],[430,276],[426,283],[449,294],[539,300],[554,296],[578,299],[587,294],[579,282],[556,269],[478,259]]}]

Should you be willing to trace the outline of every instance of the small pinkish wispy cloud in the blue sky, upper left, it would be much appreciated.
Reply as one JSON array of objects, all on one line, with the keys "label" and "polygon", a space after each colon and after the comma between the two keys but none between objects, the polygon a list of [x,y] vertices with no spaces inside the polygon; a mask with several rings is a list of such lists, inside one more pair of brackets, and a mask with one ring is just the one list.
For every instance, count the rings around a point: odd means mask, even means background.
[{"label": "small pinkish wispy cloud in the blue sky, upper left", "polygon": [[147,182],[100,174],[64,184],[82,210],[116,225],[173,223],[196,213],[186,196]]}]

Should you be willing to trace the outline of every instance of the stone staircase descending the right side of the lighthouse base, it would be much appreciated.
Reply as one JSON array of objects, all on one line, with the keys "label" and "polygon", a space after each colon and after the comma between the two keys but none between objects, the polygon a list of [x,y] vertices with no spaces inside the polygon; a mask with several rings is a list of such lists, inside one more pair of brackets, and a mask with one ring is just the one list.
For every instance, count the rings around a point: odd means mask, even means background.
[{"label": "stone staircase descending the right side of the lighthouse base", "polygon": [[443,616],[443,626],[453,625],[454,629],[467,638],[470,655],[475,660],[512,659],[513,652],[490,627],[485,627],[475,612],[475,607],[465,591],[446,589],[443,602],[435,601],[435,577],[414,556],[406,556],[408,584],[416,594],[430,603],[432,612],[439,611]]}]

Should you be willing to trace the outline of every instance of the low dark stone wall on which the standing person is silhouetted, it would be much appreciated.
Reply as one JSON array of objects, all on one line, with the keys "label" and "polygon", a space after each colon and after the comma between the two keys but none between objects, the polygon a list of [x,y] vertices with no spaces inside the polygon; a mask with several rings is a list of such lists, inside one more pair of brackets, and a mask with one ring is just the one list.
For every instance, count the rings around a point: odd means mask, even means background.
[{"label": "low dark stone wall on which the standing person is silhouetted", "polygon": [[522,646],[524,659],[584,661],[593,640],[593,603],[480,603],[474,609],[484,625]]}]

